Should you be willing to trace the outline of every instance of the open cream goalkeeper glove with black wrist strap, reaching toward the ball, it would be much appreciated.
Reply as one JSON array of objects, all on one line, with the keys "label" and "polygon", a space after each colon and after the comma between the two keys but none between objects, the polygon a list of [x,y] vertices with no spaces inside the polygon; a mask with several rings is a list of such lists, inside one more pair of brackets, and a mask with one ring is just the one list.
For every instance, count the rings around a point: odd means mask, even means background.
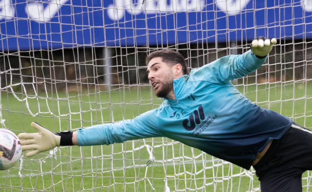
[{"label": "open cream goalkeeper glove with black wrist strap, reaching toward the ball", "polygon": [[17,135],[21,140],[22,151],[31,150],[26,153],[27,157],[32,157],[39,152],[45,152],[60,145],[73,145],[71,141],[72,132],[70,131],[54,133],[36,122],[32,122],[31,125],[39,133],[20,133]]}]

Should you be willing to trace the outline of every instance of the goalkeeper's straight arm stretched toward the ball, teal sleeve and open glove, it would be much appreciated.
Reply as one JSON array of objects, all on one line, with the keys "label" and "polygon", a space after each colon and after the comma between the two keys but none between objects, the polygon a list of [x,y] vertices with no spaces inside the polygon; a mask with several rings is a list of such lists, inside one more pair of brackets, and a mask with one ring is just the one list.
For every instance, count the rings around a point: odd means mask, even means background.
[{"label": "goalkeeper's straight arm stretched toward the ball, teal sleeve and open glove", "polygon": [[29,151],[26,156],[32,157],[59,146],[109,145],[133,139],[161,137],[157,127],[156,110],[145,112],[133,120],[94,125],[76,132],[54,133],[32,122],[32,127],[37,129],[38,133],[20,133],[18,138],[21,140],[22,151]]}]

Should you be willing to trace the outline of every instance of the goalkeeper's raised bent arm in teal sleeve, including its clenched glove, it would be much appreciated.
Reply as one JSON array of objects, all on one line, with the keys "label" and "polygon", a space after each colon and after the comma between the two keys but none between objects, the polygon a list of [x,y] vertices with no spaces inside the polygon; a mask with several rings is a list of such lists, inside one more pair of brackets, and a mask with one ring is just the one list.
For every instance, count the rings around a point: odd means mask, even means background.
[{"label": "goalkeeper's raised bent arm in teal sleeve, including its clenched glove", "polygon": [[[251,50],[241,55],[228,55],[216,61],[194,70],[195,78],[204,76],[207,81],[214,83],[226,83],[230,80],[244,77],[257,68],[266,60],[267,54],[272,50],[276,39],[258,37],[251,43]],[[192,72],[191,72],[192,73]]]}]

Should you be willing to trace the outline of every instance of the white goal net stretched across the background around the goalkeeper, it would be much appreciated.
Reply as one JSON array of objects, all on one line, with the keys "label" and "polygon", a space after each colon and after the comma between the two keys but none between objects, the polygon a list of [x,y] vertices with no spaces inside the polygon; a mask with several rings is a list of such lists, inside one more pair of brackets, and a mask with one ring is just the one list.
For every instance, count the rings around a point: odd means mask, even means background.
[{"label": "white goal net stretched across the background around the goalkeeper", "polygon": [[[0,0],[0,128],[54,132],[133,119],[162,100],[145,57],[179,51],[188,71],[275,37],[232,81],[252,102],[312,128],[311,0]],[[311,172],[303,187],[311,191]],[[244,170],[168,138],[60,147],[0,171],[0,191],[260,191]]]}]

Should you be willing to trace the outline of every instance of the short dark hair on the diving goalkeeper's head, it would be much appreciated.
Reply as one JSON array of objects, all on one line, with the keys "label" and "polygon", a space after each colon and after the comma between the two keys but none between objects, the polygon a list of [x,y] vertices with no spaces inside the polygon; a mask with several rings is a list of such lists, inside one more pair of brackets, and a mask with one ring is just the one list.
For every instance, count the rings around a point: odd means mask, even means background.
[{"label": "short dark hair on the diving goalkeeper's head", "polygon": [[177,51],[171,49],[162,49],[152,52],[146,57],[146,65],[149,64],[150,60],[155,57],[162,58],[164,63],[167,63],[169,66],[176,65],[180,63],[182,65],[182,72],[183,75],[187,74],[187,64],[182,54]]}]

